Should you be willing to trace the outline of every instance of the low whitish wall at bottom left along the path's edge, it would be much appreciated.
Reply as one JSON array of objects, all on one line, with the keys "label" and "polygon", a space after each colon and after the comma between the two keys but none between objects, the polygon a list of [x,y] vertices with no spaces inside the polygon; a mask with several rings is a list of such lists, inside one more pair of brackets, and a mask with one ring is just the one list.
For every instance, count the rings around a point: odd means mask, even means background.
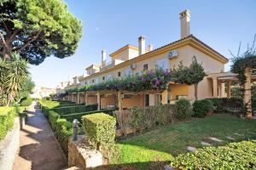
[{"label": "low whitish wall at bottom left along the path's edge", "polygon": [[0,141],[0,169],[11,170],[15,162],[15,155],[20,146],[20,121],[15,118],[14,127],[5,138]]}]

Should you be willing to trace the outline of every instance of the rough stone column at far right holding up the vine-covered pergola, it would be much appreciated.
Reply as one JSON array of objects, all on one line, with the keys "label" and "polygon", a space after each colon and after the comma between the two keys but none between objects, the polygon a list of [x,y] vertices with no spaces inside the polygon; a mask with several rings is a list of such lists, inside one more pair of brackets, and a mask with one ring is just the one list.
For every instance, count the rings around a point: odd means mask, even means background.
[{"label": "rough stone column at far right holding up the vine-covered pergola", "polygon": [[252,94],[251,94],[251,70],[249,68],[245,69],[244,76],[246,77],[246,81],[244,84],[243,102],[246,106],[247,118],[252,118],[253,111],[252,111]]}]

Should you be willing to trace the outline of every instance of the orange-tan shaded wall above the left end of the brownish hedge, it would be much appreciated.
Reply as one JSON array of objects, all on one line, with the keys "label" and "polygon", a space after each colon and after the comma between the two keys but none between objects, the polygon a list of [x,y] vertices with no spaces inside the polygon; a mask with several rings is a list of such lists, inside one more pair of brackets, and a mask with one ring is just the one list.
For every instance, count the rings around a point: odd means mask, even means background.
[{"label": "orange-tan shaded wall above the left end of the brownish hedge", "polygon": [[131,95],[131,99],[123,99],[123,109],[131,109],[133,107],[143,107],[143,95]]}]

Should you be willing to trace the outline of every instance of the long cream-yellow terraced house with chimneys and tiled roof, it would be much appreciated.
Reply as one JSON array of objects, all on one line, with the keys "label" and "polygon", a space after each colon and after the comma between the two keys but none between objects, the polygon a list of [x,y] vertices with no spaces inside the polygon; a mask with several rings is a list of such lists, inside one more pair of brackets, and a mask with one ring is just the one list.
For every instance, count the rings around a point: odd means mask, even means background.
[{"label": "long cream-yellow terraced house with chimneys and tiled roof", "polygon": [[[79,83],[93,85],[113,78],[122,78],[133,74],[140,75],[143,71],[156,68],[170,70],[180,61],[183,61],[183,65],[190,65],[195,56],[207,73],[207,77],[199,83],[198,99],[224,97],[225,82],[218,80],[216,75],[224,72],[224,65],[229,60],[190,34],[189,23],[190,12],[186,9],[180,14],[180,39],[160,48],[154,49],[153,45],[148,45],[146,48],[146,38],[141,36],[138,37],[137,46],[127,44],[109,54],[111,62],[108,64],[106,63],[106,50],[102,50],[102,65],[87,67],[88,76],[80,77]],[[181,98],[195,100],[194,86],[169,82],[168,88],[164,91],[136,94],[109,91],[68,94],[68,99],[77,103],[98,104],[99,109],[117,105],[119,110],[131,109],[136,106],[163,105]]]}]

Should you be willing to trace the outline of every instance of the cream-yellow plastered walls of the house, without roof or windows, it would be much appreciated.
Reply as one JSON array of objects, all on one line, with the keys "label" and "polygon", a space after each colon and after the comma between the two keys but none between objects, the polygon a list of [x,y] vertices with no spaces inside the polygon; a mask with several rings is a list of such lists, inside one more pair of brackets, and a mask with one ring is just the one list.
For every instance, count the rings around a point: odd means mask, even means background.
[{"label": "cream-yellow plastered walls of the house, without roof or windows", "polygon": [[[179,48],[173,48],[173,49],[177,50],[177,54],[178,54],[177,57],[175,58],[168,59],[168,53],[172,50],[170,49],[168,51],[167,50],[163,51],[163,53],[158,53],[153,57],[143,59],[143,60],[138,60],[137,62],[132,63],[137,65],[137,68],[132,70],[132,74],[142,72],[143,65],[145,64],[148,64],[148,70],[154,70],[156,68],[157,61],[160,59],[166,59],[167,61],[166,65],[168,69],[172,69],[173,67],[177,66],[180,63],[180,61],[183,61],[183,65],[190,65],[192,62],[193,56],[195,56],[198,62],[202,64],[207,74],[224,71],[223,62],[220,62],[217,59],[212,58],[207,53],[201,52],[201,50],[197,49],[196,47],[193,47],[193,44],[184,45]],[[127,59],[125,58],[126,55],[128,56],[127,53],[128,53],[128,50],[122,51],[116,56],[113,56],[113,59],[117,59],[117,58]],[[86,82],[87,84],[89,84],[88,82],[91,82],[92,79],[95,80],[96,78],[98,78],[98,82],[107,81],[109,75],[111,75],[111,78],[120,78],[118,77],[118,72],[120,72],[121,77],[125,77],[125,70],[130,68],[131,68],[131,65],[125,65],[121,68],[117,67],[117,69],[112,69],[111,71],[107,71],[107,72],[104,71],[104,73],[97,74],[95,77],[86,78]],[[105,77],[105,80],[103,80],[102,77]],[[193,85],[188,86],[187,88],[181,88],[181,87],[174,87],[174,88],[177,88],[177,92],[174,92],[173,94],[173,91],[172,91],[171,99],[174,99],[176,95],[183,95],[183,94],[187,94],[189,99],[191,100],[195,99],[195,89]],[[219,86],[219,91],[224,91],[223,89],[221,89],[221,86]],[[221,94],[221,95],[223,96],[224,94]],[[211,97],[212,97],[212,82],[210,80],[207,80],[207,78],[204,78],[203,81],[201,81],[198,86],[198,99],[205,99],[205,98],[211,98]],[[153,98],[152,96],[151,96],[151,99],[149,98],[150,105],[153,103],[152,98]],[[132,107],[126,104],[128,103],[129,100],[131,100],[130,101],[131,105],[134,105],[134,106],[143,105],[143,102],[141,101],[140,103],[137,100],[124,99],[124,101],[125,100],[127,102],[123,102],[124,103],[123,108]],[[133,104],[134,102],[137,102],[137,104]]]}]

